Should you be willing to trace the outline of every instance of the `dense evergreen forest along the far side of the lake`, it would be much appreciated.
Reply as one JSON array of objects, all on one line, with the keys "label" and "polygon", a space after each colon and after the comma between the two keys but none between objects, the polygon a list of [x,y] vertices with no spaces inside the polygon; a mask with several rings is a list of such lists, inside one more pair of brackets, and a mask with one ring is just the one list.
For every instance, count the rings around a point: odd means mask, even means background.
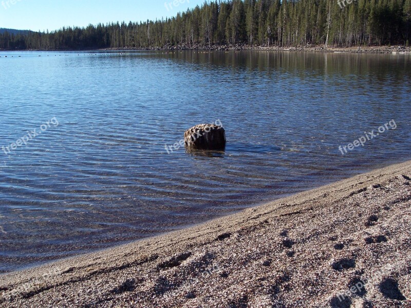
[{"label": "dense evergreen forest along the far side of the lake", "polygon": [[[351,2],[351,3],[348,3]],[[408,46],[411,0],[211,1],[169,19],[0,34],[0,49]]]}]

